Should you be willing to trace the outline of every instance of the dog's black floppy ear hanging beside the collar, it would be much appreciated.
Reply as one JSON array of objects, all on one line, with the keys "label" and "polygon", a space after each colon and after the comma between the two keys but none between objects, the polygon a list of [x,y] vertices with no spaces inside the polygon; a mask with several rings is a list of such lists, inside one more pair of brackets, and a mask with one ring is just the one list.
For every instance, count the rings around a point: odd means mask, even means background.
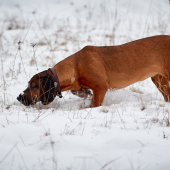
[{"label": "dog's black floppy ear hanging beside the collar", "polygon": [[44,105],[49,104],[56,97],[56,87],[54,78],[47,73],[47,75],[43,76],[41,79],[41,102]]}]

